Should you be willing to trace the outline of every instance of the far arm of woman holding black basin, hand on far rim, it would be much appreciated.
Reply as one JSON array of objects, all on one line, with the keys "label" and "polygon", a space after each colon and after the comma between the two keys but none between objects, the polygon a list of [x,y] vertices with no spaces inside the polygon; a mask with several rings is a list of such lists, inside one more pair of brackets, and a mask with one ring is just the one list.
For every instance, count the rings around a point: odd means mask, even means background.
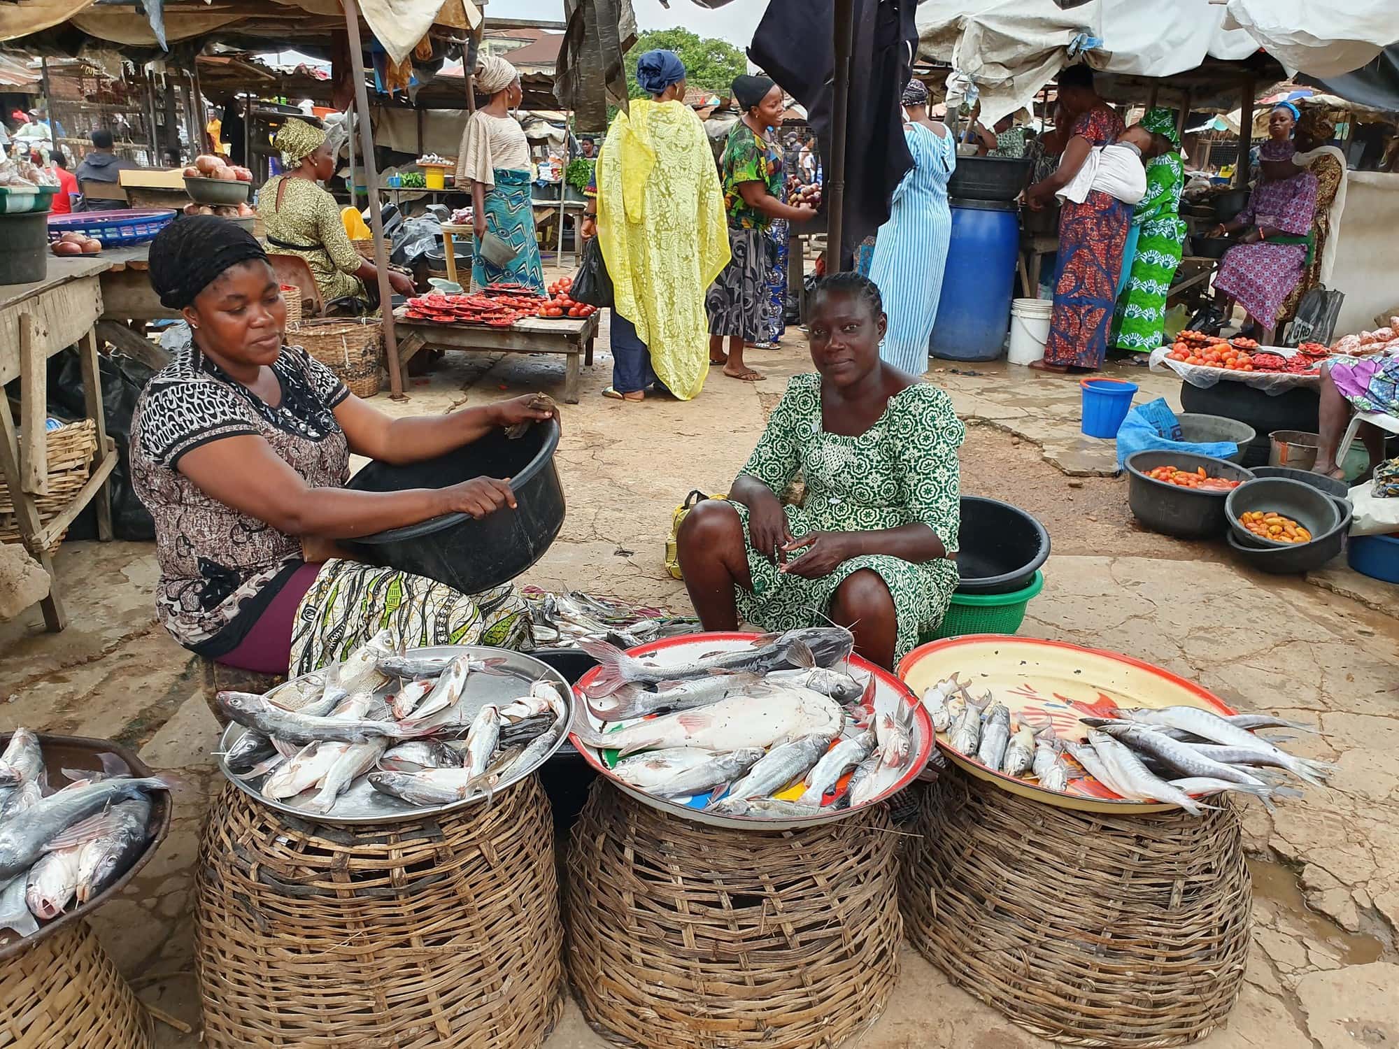
[{"label": "far arm of woman holding black basin, hand on far rim", "polygon": [[389,418],[368,401],[350,394],[334,411],[350,450],[383,463],[402,464],[455,452],[480,441],[497,427],[557,418],[558,408],[547,401],[544,407],[537,407],[536,394],[526,393],[523,397],[477,404],[446,415]]}]

